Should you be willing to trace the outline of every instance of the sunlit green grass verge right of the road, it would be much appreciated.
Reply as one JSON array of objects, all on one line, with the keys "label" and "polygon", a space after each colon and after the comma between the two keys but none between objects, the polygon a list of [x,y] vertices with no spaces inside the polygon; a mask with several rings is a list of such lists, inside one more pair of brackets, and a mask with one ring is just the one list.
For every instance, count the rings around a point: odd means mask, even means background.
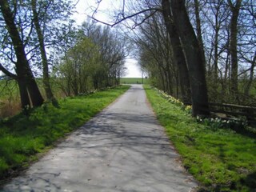
[{"label": "sunlit green grass verge right of the road", "polygon": [[254,191],[256,138],[233,130],[213,130],[199,124],[180,106],[167,102],[145,86],[159,122],[182,156],[185,168],[202,184],[202,191]]}]

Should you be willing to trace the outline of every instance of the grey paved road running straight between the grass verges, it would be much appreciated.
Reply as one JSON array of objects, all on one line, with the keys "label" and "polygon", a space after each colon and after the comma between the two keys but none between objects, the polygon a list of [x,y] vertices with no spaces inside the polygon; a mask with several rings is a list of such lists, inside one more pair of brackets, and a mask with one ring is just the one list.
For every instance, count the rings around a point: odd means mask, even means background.
[{"label": "grey paved road running straight between the grass verges", "polygon": [[190,191],[142,86],[134,85],[4,191]]}]

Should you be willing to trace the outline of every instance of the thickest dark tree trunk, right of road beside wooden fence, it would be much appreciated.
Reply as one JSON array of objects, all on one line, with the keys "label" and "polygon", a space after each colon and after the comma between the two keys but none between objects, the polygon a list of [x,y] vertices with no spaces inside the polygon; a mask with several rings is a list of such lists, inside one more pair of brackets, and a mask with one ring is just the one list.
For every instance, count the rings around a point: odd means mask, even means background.
[{"label": "thickest dark tree trunk, right of road beside wooden fence", "polygon": [[198,39],[194,34],[194,29],[186,12],[185,0],[172,0],[170,2],[162,0],[162,2],[170,3],[174,15],[174,24],[182,42],[190,75],[192,114],[194,116],[209,115],[205,64]]}]

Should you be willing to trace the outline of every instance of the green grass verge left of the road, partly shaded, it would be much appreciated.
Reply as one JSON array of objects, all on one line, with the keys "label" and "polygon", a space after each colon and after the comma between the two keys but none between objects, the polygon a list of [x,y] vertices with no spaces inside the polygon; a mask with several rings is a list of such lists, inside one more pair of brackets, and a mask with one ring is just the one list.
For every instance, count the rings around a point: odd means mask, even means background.
[{"label": "green grass verge left of the road, partly shaded", "polygon": [[113,102],[129,86],[118,86],[87,96],[65,98],[60,108],[47,104],[0,122],[0,179],[10,176],[37,158],[58,138],[82,126]]}]

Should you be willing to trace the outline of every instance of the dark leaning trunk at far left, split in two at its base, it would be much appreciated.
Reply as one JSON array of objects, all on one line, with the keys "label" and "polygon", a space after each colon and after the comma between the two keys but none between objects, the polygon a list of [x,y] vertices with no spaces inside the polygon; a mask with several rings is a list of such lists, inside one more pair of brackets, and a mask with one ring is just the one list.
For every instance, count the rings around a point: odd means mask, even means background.
[{"label": "dark leaning trunk at far left, split in two at its base", "polygon": [[[14,51],[17,57],[16,73],[17,81],[20,90],[22,101],[22,108],[30,107],[30,100],[33,106],[41,106],[43,103],[42,95],[35,82],[34,75],[30,69],[29,62],[26,58],[25,47],[22,39],[18,34],[18,29],[14,23],[14,14],[10,10],[9,2],[7,0],[0,1],[0,9],[2,16],[6,22],[6,28],[10,34],[10,38],[14,45]],[[30,98],[30,99],[29,99]]]}]

